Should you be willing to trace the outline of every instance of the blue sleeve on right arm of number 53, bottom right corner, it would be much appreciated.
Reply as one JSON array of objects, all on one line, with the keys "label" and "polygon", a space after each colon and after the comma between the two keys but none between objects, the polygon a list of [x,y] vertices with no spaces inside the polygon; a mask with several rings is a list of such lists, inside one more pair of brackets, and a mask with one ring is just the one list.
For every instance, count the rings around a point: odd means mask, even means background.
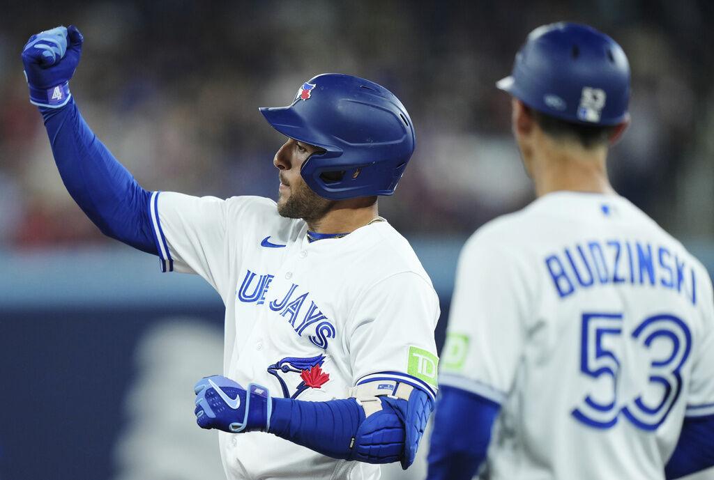
[{"label": "blue sleeve on right arm of number 53, bottom right corner", "polygon": [[678,479],[710,466],[714,466],[714,415],[687,417],[665,466],[665,478]]}]

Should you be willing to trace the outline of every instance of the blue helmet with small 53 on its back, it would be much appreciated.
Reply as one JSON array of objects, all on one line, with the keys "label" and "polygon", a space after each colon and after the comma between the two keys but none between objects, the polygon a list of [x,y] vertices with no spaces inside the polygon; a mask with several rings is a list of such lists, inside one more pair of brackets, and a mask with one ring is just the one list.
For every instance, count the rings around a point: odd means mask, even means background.
[{"label": "blue helmet with small 53 on its back", "polygon": [[564,121],[613,126],[628,119],[627,56],[590,26],[560,22],[533,30],[516,54],[513,73],[496,86]]}]

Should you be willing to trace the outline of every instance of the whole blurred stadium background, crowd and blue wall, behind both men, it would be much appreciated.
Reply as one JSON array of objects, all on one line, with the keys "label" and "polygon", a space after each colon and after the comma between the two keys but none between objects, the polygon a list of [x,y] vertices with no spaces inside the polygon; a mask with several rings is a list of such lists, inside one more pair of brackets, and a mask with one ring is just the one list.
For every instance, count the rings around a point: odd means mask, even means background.
[{"label": "whole blurred stadium background, crowd and blue wall, behind both men", "polygon": [[381,213],[413,242],[446,314],[463,241],[533,198],[493,83],[528,31],[560,19],[605,31],[630,58],[633,123],[611,155],[615,188],[714,271],[709,1],[4,2],[0,480],[223,478],[191,391],[221,368],[221,301],[102,238],[69,198],[27,101],[19,53],[31,34],[79,26],[72,92],[151,190],[275,198],[282,139],[258,106],[289,103],[326,71],[390,88],[418,147]]}]

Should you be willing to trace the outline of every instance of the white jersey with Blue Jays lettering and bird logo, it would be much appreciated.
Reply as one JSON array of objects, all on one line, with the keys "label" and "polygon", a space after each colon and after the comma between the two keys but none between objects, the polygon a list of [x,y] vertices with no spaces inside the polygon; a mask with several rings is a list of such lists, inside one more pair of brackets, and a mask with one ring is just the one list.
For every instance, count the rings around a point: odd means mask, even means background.
[{"label": "white jersey with Blue Jays lettering and bird logo", "polygon": [[[267,198],[154,193],[151,215],[162,269],[201,275],[226,305],[226,377],[315,402],[391,379],[434,394],[438,297],[386,221],[310,243],[306,223]],[[263,432],[219,432],[219,442],[231,480],[379,477],[378,465]]]}]

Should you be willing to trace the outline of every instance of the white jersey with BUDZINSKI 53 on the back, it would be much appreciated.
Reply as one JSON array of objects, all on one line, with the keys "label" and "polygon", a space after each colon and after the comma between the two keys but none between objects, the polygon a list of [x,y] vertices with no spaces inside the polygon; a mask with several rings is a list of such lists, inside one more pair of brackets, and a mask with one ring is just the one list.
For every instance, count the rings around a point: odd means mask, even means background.
[{"label": "white jersey with BUDZINSKI 53 on the back", "polygon": [[714,414],[705,268],[617,195],[558,192],[463,248],[441,385],[501,404],[490,479],[663,479]]}]

